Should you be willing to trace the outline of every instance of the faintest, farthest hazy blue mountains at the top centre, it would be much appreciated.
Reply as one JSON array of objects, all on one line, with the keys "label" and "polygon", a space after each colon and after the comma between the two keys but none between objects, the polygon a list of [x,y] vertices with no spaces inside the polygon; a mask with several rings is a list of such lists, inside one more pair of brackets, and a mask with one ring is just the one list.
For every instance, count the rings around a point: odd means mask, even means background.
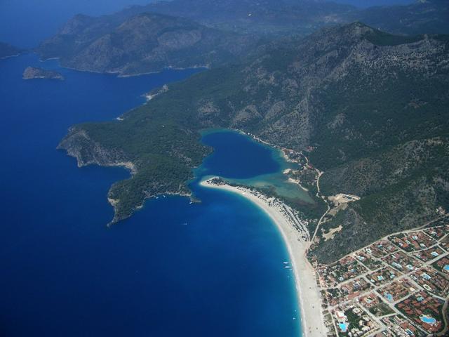
[{"label": "faintest, farthest hazy blue mountains at the top centre", "polygon": [[189,18],[221,29],[276,34],[309,34],[343,21],[353,6],[311,0],[173,0],[147,6],[147,11]]}]

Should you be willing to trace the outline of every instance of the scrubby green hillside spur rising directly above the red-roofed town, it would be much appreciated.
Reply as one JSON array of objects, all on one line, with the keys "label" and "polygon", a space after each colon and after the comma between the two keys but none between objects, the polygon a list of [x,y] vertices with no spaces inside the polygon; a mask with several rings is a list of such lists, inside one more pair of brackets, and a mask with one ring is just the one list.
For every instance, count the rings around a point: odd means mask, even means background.
[{"label": "scrubby green hillside spur rising directly above the red-roofed town", "polygon": [[325,172],[323,194],[356,194],[324,223],[323,230],[342,225],[332,240],[322,240],[315,253],[332,262],[392,232],[420,227],[449,209],[449,138],[412,140],[371,157],[354,159]]}]

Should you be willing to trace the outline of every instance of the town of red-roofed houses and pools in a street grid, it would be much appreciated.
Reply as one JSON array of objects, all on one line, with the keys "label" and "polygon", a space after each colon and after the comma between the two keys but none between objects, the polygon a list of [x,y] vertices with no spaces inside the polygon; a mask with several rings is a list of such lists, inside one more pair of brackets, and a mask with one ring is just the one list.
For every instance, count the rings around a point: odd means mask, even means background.
[{"label": "town of red-roofed houses and pools in a street grid", "polygon": [[312,261],[328,336],[448,336],[449,218]]}]

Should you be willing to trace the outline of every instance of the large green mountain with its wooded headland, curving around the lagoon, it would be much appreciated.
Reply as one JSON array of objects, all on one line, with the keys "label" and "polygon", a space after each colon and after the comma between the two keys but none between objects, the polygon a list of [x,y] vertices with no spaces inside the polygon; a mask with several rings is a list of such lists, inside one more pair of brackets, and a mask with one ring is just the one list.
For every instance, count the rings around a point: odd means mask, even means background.
[{"label": "large green mountain with its wooded headland, curving around the lagoon", "polygon": [[[330,262],[449,209],[448,72],[448,36],[394,36],[355,22],[273,42],[242,65],[170,85],[122,121],[74,126],[60,148],[80,165],[134,164],[133,178],[109,192],[118,221],[146,197],[188,193],[192,168],[208,154],[201,128],[311,147],[322,192],[361,197],[323,225],[328,232],[343,223],[315,248]],[[320,201],[300,211],[319,216]]]}]

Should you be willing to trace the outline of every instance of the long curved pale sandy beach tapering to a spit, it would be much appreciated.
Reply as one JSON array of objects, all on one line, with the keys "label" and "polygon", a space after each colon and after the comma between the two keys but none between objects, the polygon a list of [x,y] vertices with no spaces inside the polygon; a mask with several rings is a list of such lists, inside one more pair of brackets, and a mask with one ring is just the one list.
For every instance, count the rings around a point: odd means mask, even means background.
[{"label": "long curved pale sandy beach tapering to a spit", "polygon": [[283,240],[286,243],[290,260],[295,273],[295,284],[298,295],[298,302],[301,311],[302,336],[322,337],[326,336],[327,329],[324,325],[323,313],[321,311],[321,296],[319,286],[316,284],[315,270],[310,265],[305,256],[305,251],[309,247],[309,233],[305,226],[295,229],[294,225],[303,225],[299,220],[293,219],[288,213],[288,207],[275,201],[274,198],[264,197],[262,194],[253,192],[244,187],[233,187],[230,185],[216,185],[210,180],[203,180],[200,183],[203,187],[227,190],[240,194],[246,199],[253,201],[279,228]]}]

